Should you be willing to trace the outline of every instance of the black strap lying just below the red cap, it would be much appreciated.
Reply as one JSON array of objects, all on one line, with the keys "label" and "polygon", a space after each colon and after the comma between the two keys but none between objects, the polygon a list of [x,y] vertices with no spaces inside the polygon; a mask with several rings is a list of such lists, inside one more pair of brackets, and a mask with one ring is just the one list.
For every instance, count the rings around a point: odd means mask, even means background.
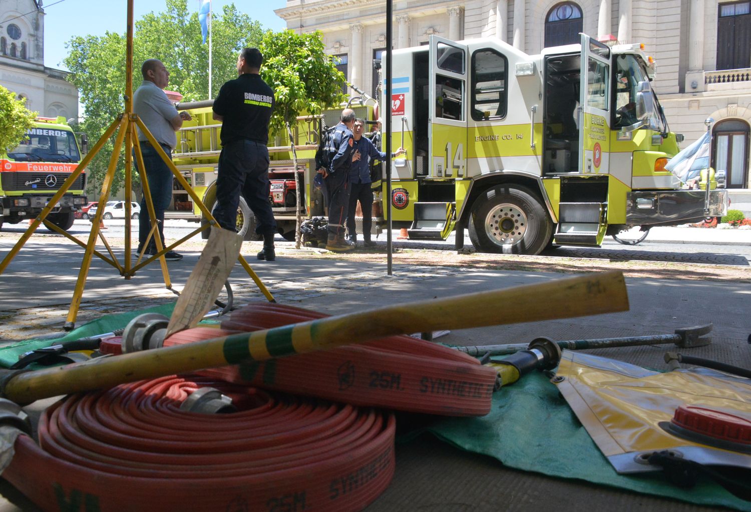
[{"label": "black strap lying just below the red cap", "polygon": [[[675,486],[687,489],[696,485],[700,475],[710,477],[716,483],[723,486],[728,492],[737,498],[751,501],[751,471],[743,468],[713,468],[708,465],[699,464],[692,460],[686,460],[675,456],[673,453],[663,450],[652,453],[647,462],[662,467],[665,477]],[[725,471],[726,469],[726,471]],[[725,472],[732,472],[733,477],[728,476]],[[740,477],[738,477],[740,473]]]}]

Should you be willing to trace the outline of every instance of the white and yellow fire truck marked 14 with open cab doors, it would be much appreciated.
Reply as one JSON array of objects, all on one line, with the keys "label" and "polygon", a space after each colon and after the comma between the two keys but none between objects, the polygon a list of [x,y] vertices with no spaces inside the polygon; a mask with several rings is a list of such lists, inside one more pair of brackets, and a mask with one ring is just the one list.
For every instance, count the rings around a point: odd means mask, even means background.
[{"label": "white and yellow fire truck marked 14 with open cab doors", "polygon": [[[493,38],[437,36],[427,46],[394,51],[392,97],[381,101],[391,105],[392,147],[406,149],[391,164],[394,227],[407,228],[411,239],[446,239],[456,230],[457,248],[466,229],[478,251],[538,254],[555,245],[597,246],[633,226],[725,214],[727,191],[689,190],[665,170],[683,136],[668,127],[644,47],[581,38],[581,45],[535,56]],[[207,187],[211,207],[219,125],[210,102],[204,108],[195,126],[183,128],[176,164],[194,187]],[[358,116],[371,114],[360,109]],[[327,125],[338,115],[324,113]],[[311,123],[298,123],[296,134],[305,139],[296,143],[308,216],[321,215],[311,188]],[[285,143],[277,138],[271,148],[270,200],[289,237],[294,194],[286,198],[296,191],[288,186],[294,173]],[[375,234],[385,227],[382,197],[385,182],[375,194]],[[252,230],[244,203],[240,210],[238,224]],[[198,209],[190,213],[200,220]]]}]

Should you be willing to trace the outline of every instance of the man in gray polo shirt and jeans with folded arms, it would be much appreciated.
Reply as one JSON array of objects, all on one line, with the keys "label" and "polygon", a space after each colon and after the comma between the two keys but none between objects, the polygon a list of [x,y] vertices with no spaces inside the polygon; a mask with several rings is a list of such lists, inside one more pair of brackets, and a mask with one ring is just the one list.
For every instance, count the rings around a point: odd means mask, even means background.
[{"label": "man in gray polo shirt and jeans with folded arms", "polygon": [[[143,83],[136,89],[133,95],[133,111],[136,113],[146,128],[157,140],[161,149],[172,158],[172,150],[177,144],[175,131],[182,126],[183,121],[189,121],[189,113],[177,112],[177,109],[164,94],[164,88],[170,80],[170,72],[164,68],[164,64],[158,59],[148,59],[141,66]],[[146,140],[146,135],[138,130],[141,153],[143,153],[143,166],[146,168],[146,179],[149,181],[151,200],[154,203],[154,213],[159,225],[159,236],[164,244],[164,210],[170,206],[172,200],[172,171],[161,159],[156,149]],[[136,163],[137,166],[137,163]],[[138,252],[146,243],[146,238],[151,230],[149,209],[146,207],[146,197],[140,202],[140,217],[138,218]],[[151,240],[145,254],[156,254],[156,245]],[[182,254],[169,251],[164,254],[169,261],[182,260]]]}]

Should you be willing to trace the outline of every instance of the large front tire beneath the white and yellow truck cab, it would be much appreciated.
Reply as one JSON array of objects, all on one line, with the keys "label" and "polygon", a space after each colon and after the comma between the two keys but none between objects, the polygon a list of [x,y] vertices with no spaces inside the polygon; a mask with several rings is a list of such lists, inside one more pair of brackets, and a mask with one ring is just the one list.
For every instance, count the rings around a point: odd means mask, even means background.
[{"label": "large front tire beneath the white and yellow truck cab", "polygon": [[469,239],[479,252],[539,254],[553,223],[541,200],[521,185],[498,185],[472,205]]}]

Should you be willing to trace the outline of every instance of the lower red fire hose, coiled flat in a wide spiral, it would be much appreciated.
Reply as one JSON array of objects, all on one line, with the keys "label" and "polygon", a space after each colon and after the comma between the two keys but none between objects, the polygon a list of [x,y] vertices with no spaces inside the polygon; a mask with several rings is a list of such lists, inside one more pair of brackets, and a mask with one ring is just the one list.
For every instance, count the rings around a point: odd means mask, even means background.
[{"label": "lower red fire hose, coiled flat in a wide spiral", "polygon": [[[199,387],[234,414],[185,412]],[[361,510],[394,474],[394,417],[210,378],[68,396],[3,473],[44,510]]]}]

